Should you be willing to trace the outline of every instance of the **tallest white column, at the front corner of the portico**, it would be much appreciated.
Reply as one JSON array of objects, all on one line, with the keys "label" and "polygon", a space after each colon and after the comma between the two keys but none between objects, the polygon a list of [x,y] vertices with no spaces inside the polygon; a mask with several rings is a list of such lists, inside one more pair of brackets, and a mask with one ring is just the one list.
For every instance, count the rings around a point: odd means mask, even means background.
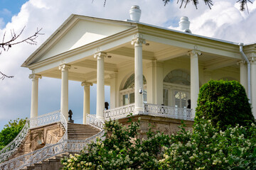
[{"label": "tallest white column, at the front corner of the portico", "polygon": [[140,89],[143,91],[142,43],[145,43],[142,34],[135,35],[132,45],[134,45],[134,111],[137,113],[143,111],[142,94],[139,94]]}]

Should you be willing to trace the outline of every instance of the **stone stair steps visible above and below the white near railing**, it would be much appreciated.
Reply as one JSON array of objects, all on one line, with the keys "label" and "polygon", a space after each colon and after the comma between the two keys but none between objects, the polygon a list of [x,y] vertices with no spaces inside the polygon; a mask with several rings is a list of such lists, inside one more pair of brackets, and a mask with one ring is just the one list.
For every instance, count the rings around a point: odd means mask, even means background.
[{"label": "stone stair steps visible above and below the white near railing", "polygon": [[[100,132],[100,130],[92,127],[91,125],[68,123],[68,140],[85,140],[88,137],[96,135],[98,132]],[[69,157],[69,154],[75,153],[60,154],[57,157],[51,157],[43,160],[43,162],[33,164],[33,166],[27,166],[22,170],[59,170],[63,167],[60,163],[60,159],[63,157]]]}]

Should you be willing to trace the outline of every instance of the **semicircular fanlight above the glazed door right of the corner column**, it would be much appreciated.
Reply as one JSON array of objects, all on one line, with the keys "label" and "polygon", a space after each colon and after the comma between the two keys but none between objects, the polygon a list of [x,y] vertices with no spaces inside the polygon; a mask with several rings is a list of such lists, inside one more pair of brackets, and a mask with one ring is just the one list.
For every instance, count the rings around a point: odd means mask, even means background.
[{"label": "semicircular fanlight above the glazed door right of the corner column", "polygon": [[164,82],[190,86],[191,77],[190,74],[181,69],[174,69],[173,71],[169,72],[166,77],[164,77]]}]

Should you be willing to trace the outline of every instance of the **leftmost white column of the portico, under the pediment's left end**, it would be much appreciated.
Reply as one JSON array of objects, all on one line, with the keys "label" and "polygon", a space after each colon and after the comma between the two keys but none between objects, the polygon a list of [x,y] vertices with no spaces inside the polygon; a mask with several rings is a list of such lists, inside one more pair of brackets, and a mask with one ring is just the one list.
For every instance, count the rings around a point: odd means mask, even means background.
[{"label": "leftmost white column of the portico, under the pediment's left end", "polygon": [[29,79],[32,79],[31,89],[31,118],[38,116],[38,79],[41,79],[41,75],[30,74]]}]

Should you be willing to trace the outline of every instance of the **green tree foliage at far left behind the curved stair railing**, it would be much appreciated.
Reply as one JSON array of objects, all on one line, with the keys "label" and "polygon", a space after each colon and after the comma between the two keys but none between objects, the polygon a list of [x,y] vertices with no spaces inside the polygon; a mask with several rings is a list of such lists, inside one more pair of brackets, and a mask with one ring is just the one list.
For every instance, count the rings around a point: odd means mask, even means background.
[{"label": "green tree foliage at far left behind the curved stair railing", "polygon": [[8,124],[4,125],[4,129],[0,132],[0,149],[8,145],[26,124],[26,119],[10,120]]}]

